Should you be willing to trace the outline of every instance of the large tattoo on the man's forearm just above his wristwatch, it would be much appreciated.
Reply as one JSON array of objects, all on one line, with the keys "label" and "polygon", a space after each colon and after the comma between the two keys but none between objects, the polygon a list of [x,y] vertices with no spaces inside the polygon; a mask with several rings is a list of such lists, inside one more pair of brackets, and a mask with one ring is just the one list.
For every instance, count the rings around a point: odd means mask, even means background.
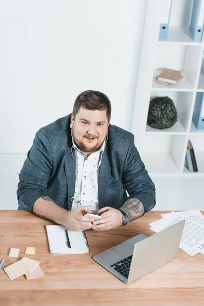
[{"label": "large tattoo on the man's forearm just above his wristwatch", "polygon": [[127,199],[121,209],[129,216],[130,221],[140,218],[144,214],[144,206],[136,197]]}]

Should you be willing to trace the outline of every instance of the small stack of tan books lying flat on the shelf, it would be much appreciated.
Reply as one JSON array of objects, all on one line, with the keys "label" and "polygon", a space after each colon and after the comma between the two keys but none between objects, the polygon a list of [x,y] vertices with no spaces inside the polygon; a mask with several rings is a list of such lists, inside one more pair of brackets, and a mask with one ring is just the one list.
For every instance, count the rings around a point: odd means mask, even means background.
[{"label": "small stack of tan books lying flat on the shelf", "polygon": [[175,85],[176,82],[183,79],[182,71],[163,68],[160,75],[154,78],[154,81],[165,86]]}]

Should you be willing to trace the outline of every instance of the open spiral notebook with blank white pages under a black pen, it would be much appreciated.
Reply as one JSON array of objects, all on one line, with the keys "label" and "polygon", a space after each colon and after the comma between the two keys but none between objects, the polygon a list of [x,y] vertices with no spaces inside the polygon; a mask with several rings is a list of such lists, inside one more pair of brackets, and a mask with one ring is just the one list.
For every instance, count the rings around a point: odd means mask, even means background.
[{"label": "open spiral notebook with blank white pages under a black pen", "polygon": [[[67,246],[66,229],[71,248]],[[46,225],[46,231],[51,254],[83,254],[89,252],[85,232],[73,232],[63,225]]]}]

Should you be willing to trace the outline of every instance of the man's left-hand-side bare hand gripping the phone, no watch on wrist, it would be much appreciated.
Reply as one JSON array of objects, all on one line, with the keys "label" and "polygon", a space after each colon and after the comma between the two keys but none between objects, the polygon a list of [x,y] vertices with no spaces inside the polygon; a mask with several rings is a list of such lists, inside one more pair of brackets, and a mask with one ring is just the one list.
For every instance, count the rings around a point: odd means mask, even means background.
[{"label": "man's left-hand-side bare hand gripping the phone, no watch on wrist", "polygon": [[86,206],[80,206],[72,211],[67,212],[64,226],[68,227],[71,231],[85,231],[91,228],[91,223],[94,219],[83,216],[83,212],[92,214],[92,211]]}]

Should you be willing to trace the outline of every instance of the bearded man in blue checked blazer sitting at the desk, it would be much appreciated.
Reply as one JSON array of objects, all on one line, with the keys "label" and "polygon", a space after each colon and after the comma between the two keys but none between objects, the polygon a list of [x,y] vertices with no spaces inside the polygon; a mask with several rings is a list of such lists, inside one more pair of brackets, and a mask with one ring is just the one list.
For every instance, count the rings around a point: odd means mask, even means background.
[{"label": "bearded man in blue checked blazer sitting at the desk", "polygon": [[[42,127],[19,174],[18,210],[72,231],[109,231],[154,208],[155,185],[134,135],[110,120],[109,98],[87,90],[72,114]],[[84,216],[92,211],[101,219]]]}]

